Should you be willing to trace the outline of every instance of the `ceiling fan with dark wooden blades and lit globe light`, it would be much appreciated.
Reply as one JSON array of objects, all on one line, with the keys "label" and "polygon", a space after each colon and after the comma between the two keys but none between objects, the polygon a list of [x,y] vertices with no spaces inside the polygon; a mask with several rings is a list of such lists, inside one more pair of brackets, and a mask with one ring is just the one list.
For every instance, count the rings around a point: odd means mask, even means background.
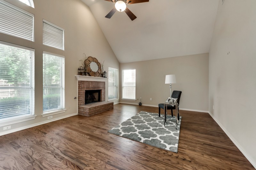
[{"label": "ceiling fan with dark wooden blades and lit globe light", "polygon": [[116,11],[120,11],[120,12],[124,11],[132,21],[137,17],[126,7],[126,5],[149,2],[149,0],[105,0],[105,1],[113,2],[115,4],[115,8],[113,8],[105,16],[106,18],[111,18]]}]

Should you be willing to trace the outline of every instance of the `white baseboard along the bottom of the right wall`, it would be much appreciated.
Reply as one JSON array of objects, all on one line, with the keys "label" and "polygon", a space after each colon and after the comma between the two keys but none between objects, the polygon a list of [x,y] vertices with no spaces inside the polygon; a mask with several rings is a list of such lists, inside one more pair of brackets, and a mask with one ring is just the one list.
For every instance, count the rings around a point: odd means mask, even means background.
[{"label": "white baseboard along the bottom of the right wall", "polygon": [[209,111],[209,115],[215,120],[215,122],[220,126],[220,128],[226,133],[228,138],[236,145],[236,147],[243,153],[246,159],[252,164],[252,166],[256,169],[256,162],[244,151],[244,149],[237,143],[237,141],[228,133],[228,131],[220,124],[220,122],[212,115],[212,113]]}]

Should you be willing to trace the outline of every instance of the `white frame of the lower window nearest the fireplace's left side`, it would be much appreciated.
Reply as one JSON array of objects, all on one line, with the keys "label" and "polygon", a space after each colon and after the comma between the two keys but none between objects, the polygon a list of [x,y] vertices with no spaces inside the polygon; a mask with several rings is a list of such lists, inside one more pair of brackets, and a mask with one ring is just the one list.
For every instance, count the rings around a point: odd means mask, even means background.
[{"label": "white frame of the lower window nearest the fireplace's left side", "polygon": [[[61,108],[58,108],[58,109],[52,109],[52,110],[44,110],[43,109],[43,114],[42,116],[45,117],[44,115],[54,115],[54,114],[58,114],[58,113],[63,113],[66,111],[65,109],[65,57],[62,56],[62,55],[58,55],[58,54],[54,54],[54,53],[49,53],[49,52],[45,52],[43,51],[43,68],[45,68],[45,63],[44,63],[44,54],[48,54],[48,55],[52,55],[54,57],[61,57],[63,58],[64,60],[64,63],[63,63],[63,68],[60,72],[60,77],[61,77],[61,103],[62,103],[62,107]],[[43,70],[42,70],[43,71]],[[62,74],[63,73],[63,74]],[[45,82],[45,77],[44,77],[44,72],[43,72],[43,82]],[[45,85],[43,83],[43,90],[45,89]],[[57,88],[52,88],[52,89],[57,89]],[[43,98],[44,98],[44,93],[43,93]],[[44,108],[44,103],[43,103],[43,108]]]}]

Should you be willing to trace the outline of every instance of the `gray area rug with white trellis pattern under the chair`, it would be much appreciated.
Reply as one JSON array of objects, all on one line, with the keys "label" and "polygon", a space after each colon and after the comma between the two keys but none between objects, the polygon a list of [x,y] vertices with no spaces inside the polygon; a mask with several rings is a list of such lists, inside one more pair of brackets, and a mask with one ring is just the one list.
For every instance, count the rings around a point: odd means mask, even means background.
[{"label": "gray area rug with white trellis pattern under the chair", "polygon": [[167,119],[164,127],[164,115],[141,111],[108,132],[177,153],[180,129],[176,130],[175,117],[167,115]]}]

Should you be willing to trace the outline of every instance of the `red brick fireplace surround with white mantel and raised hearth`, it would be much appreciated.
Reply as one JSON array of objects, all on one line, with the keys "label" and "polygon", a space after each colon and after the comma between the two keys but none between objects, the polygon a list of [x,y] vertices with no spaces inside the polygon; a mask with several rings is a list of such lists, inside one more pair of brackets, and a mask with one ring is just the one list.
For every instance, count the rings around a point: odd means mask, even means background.
[{"label": "red brick fireplace surround with white mantel and raised hearth", "polygon": [[[78,80],[78,115],[90,117],[114,108],[113,102],[105,101],[108,78],[76,75]],[[100,90],[100,102],[85,104],[86,90]]]}]

